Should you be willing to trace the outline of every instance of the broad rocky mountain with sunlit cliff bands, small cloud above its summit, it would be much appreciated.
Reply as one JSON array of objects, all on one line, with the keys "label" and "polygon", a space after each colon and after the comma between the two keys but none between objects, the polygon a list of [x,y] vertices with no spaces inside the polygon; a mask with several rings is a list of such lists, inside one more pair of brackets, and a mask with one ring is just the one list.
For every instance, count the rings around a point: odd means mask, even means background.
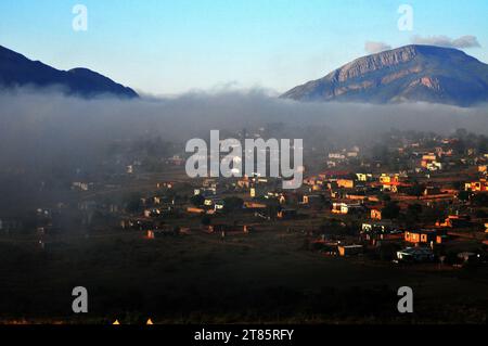
[{"label": "broad rocky mountain with sunlit cliff bands, small cloud above its summit", "polygon": [[488,65],[463,51],[411,44],[357,59],[281,98],[312,102],[488,102]]}]

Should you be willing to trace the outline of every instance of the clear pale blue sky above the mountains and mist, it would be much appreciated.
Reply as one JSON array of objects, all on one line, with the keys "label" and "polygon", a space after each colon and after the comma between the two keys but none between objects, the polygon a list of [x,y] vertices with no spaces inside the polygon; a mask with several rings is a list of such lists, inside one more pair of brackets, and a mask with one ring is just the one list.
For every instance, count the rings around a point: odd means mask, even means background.
[{"label": "clear pale blue sky above the mountains and mist", "polygon": [[[72,9],[88,9],[74,31]],[[413,30],[400,31],[400,4]],[[1,0],[0,44],[61,69],[88,67],[155,94],[285,91],[365,55],[367,41],[475,36],[488,63],[486,0]]]}]

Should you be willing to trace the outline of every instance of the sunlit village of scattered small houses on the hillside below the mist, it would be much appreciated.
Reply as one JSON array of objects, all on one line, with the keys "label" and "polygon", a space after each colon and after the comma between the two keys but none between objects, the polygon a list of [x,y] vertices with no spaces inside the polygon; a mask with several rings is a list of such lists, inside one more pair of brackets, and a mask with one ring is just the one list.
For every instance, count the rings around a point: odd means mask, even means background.
[{"label": "sunlit village of scattered small houses on the hillside below the mist", "polygon": [[127,236],[150,248],[193,238],[232,251],[270,234],[277,236],[272,242],[293,238],[299,244],[294,252],[318,261],[423,273],[487,268],[488,151],[457,136],[396,133],[395,142],[386,153],[374,146],[367,154],[358,145],[306,152],[312,158],[295,190],[257,174],[188,178],[184,154],[165,157],[162,172],[147,171],[143,161],[118,158],[123,171],[108,181],[104,175],[72,181],[64,201],[28,217],[2,215],[0,239],[55,254],[78,239]]}]

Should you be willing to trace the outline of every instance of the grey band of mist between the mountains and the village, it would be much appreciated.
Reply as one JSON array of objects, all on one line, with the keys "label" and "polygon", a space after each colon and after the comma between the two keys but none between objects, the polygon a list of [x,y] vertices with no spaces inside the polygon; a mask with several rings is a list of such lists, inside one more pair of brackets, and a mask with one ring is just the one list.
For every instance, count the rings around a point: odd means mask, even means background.
[{"label": "grey band of mist between the mountains and the village", "polygon": [[391,128],[449,134],[464,128],[488,133],[488,106],[412,103],[395,105],[299,103],[264,90],[192,92],[174,98],[86,100],[59,92],[0,93],[0,163],[3,168],[53,161],[82,163],[113,141],[160,137],[180,143],[210,129],[239,130],[284,124],[283,136],[301,138],[323,128],[324,140],[374,138]]}]

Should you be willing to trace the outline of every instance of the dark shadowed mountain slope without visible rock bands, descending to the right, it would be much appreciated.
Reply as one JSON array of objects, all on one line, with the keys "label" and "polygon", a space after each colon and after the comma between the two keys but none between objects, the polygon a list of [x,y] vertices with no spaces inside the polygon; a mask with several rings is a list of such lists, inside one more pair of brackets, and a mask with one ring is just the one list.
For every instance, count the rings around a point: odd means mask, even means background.
[{"label": "dark shadowed mountain slope without visible rock bands, descending to the right", "polygon": [[88,68],[60,71],[0,46],[0,89],[61,88],[66,94],[133,99],[138,93]]}]

